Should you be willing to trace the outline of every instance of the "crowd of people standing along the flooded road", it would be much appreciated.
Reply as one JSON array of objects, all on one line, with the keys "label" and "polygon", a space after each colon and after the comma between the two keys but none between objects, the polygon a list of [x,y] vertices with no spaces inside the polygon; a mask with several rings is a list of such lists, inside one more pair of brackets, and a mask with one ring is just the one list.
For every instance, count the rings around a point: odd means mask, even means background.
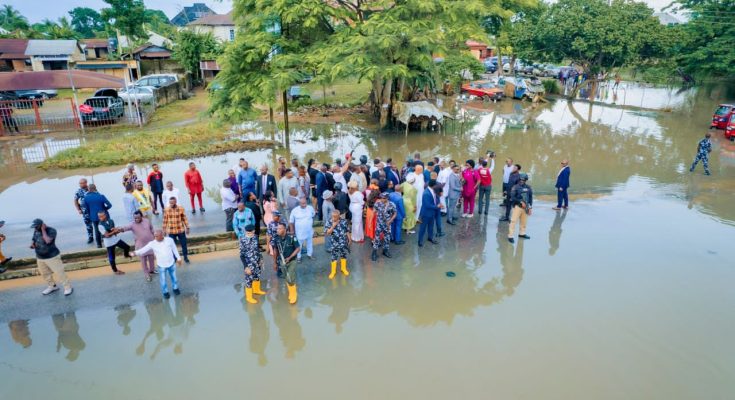
[{"label": "crowd of people standing along the flooded road", "polygon": [[[220,197],[225,229],[239,242],[247,302],[257,303],[255,296],[265,294],[262,253],[268,252],[277,276],[286,281],[289,302],[296,303],[297,264],[303,256],[314,257],[317,220],[323,221],[325,249],[331,256],[329,279],[334,279],[338,273],[349,276],[347,261],[353,242],[370,240],[373,261],[380,256],[391,258],[391,245],[405,244],[404,235],[416,234],[417,225],[419,247],[426,241],[438,244],[438,239],[445,236],[443,223],[455,225],[460,218],[489,214],[494,168],[492,151],[477,161],[470,159],[463,164],[439,157],[424,162],[419,153],[402,166],[394,164],[390,158],[385,161],[375,158],[369,165],[366,156],[355,160],[352,153],[344,160],[335,160],[333,165],[313,159],[306,165],[294,159],[288,165],[280,158],[275,175],[270,174],[265,165],[256,172],[246,160],[240,159],[223,179]],[[179,190],[171,181],[164,183],[163,172],[157,164],[151,169],[144,181],[138,178],[135,166],[128,165],[122,178],[126,219],[123,224],[118,225],[110,218],[112,204],[86,179],[79,182],[74,207],[86,227],[88,243],[96,242],[98,247],[107,249],[115,274],[124,273],[116,266],[116,249],[119,248],[125,257],[140,257],[147,281],[159,274],[161,291],[168,298],[166,275],[174,295],[180,293],[176,266],[189,262],[187,235],[190,226],[184,207],[179,205]],[[568,207],[569,175],[569,163],[563,160],[557,179],[557,210]],[[533,191],[528,180],[519,164],[514,164],[512,159],[506,160],[503,202],[500,204],[505,207],[505,214],[500,220],[510,222],[508,240],[511,243],[515,241],[515,226],[519,222],[518,237],[530,239],[526,223],[533,207]],[[189,164],[184,181],[191,213],[196,213],[195,200],[199,202],[199,211],[204,213],[201,196],[204,186],[194,163]],[[155,216],[161,213],[160,228],[154,229]],[[63,264],[60,258],[56,262],[58,254],[52,249],[56,231],[40,220],[34,221],[33,228],[39,269],[45,265],[42,275],[48,282],[44,294],[58,290],[53,274],[57,275],[65,292],[71,294]],[[128,231],[135,238],[135,251],[120,238],[120,234]],[[263,231],[265,246],[260,241]],[[61,268],[57,264],[62,265]]]}]

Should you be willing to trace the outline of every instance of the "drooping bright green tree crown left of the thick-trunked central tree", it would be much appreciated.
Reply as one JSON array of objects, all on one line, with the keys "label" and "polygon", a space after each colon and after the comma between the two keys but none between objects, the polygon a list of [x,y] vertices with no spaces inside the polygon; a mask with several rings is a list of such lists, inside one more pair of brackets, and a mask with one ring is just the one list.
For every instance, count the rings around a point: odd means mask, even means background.
[{"label": "drooping bright green tree crown left of the thick-trunked central tree", "polygon": [[336,9],[313,0],[236,0],[233,14],[238,30],[218,59],[223,89],[214,92],[211,111],[239,120],[256,104],[272,109],[278,98],[286,108],[286,90],[306,75],[307,55],[333,31]]}]

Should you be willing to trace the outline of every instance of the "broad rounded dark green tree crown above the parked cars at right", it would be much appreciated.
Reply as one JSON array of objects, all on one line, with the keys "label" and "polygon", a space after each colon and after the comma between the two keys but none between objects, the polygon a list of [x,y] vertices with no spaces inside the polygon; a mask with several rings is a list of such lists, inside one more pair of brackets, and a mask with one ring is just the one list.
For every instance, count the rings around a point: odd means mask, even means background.
[{"label": "broad rounded dark green tree crown above the parked cars at right", "polygon": [[672,46],[652,13],[629,0],[560,0],[517,31],[516,42],[535,60],[572,61],[592,73],[650,63]]}]

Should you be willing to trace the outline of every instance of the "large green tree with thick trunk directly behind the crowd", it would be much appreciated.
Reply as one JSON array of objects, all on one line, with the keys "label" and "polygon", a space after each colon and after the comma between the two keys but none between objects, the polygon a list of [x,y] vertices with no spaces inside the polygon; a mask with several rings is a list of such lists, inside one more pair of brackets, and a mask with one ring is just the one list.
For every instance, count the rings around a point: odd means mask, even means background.
[{"label": "large green tree with thick trunk directly behind the crowd", "polygon": [[315,54],[324,60],[319,73],[369,79],[381,128],[392,123],[394,102],[434,96],[433,55],[466,49],[467,39],[487,41],[479,16],[505,12],[493,0],[337,3],[342,24]]}]

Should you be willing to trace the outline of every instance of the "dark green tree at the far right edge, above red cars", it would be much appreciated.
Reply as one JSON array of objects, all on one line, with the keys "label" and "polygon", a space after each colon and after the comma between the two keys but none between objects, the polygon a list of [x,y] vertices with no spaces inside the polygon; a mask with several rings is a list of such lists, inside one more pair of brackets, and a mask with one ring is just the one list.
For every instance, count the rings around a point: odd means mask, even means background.
[{"label": "dark green tree at the far right edge, above red cars", "polygon": [[676,61],[689,73],[707,77],[735,76],[735,0],[679,0],[674,11],[689,22],[674,27],[682,33]]}]

